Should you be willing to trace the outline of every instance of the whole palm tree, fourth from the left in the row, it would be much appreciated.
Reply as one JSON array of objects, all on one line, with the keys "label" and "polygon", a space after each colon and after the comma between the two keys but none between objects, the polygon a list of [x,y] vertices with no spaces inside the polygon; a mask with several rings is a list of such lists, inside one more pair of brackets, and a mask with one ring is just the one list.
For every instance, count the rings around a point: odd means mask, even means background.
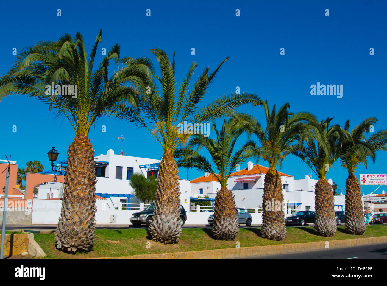
[{"label": "whole palm tree, fourth from the left in the row", "polygon": [[[315,128],[312,123],[315,122],[315,117],[312,114],[308,112],[293,114],[289,112],[289,108],[289,103],[285,103],[276,112],[276,105],[274,105],[270,112],[266,100],[264,103],[267,124],[265,130],[259,123],[253,123],[254,133],[261,144],[259,155],[269,163],[269,170],[264,180],[261,236],[272,240],[282,240],[286,237],[282,181],[276,166],[281,167],[291,146],[296,144],[297,140],[300,144],[304,138],[312,136],[311,130]],[[273,200],[276,206],[272,205]],[[281,209],[278,209],[278,203]]]}]

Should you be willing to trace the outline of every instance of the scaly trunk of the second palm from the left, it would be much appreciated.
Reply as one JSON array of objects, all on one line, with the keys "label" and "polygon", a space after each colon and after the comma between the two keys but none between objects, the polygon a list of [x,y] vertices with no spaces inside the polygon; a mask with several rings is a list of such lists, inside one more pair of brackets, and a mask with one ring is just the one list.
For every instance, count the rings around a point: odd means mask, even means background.
[{"label": "scaly trunk of the second palm from the left", "polygon": [[178,167],[170,150],[164,152],[159,165],[155,197],[149,233],[154,241],[177,243],[183,230],[180,225],[180,185]]}]

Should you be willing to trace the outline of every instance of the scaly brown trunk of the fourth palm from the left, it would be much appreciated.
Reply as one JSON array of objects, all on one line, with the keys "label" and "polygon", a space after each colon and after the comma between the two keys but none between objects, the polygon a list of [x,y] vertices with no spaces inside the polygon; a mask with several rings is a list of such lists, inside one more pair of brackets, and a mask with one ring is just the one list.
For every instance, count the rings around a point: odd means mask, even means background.
[{"label": "scaly brown trunk of the fourth palm from the left", "polygon": [[276,168],[270,167],[265,176],[261,236],[272,240],[286,237],[282,181]]}]

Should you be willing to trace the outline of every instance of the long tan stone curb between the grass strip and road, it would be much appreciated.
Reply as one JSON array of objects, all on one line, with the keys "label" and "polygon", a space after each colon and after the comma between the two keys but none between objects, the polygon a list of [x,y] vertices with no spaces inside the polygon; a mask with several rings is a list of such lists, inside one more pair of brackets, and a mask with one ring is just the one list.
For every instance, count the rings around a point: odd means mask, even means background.
[{"label": "long tan stone curb between the grass strip and road", "polygon": [[[356,245],[376,244],[387,242],[387,236],[370,238],[353,238],[330,240],[329,248],[341,248]],[[258,255],[271,255],[278,253],[322,250],[325,249],[326,241],[315,241],[307,243],[291,243],[282,245],[250,246],[241,248],[226,248],[214,250],[199,250],[174,253],[154,253],[121,257],[99,257],[92,259],[224,259],[238,258]]]}]

